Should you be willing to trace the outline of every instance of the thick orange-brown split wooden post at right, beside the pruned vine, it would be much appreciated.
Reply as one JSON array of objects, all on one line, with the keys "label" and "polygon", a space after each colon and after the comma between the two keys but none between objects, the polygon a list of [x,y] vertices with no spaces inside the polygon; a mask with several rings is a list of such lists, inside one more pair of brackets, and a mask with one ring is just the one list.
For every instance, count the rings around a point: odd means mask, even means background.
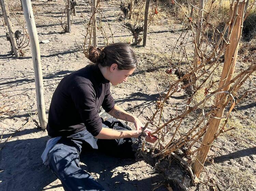
[{"label": "thick orange-brown split wooden post at right, beside the pruned vine", "polygon": [[[245,7],[245,2],[238,3],[237,1],[234,1],[234,0],[230,7],[229,14],[230,16],[233,15],[233,19],[231,20],[231,24],[229,25],[230,41],[229,41],[229,46],[227,47],[226,53],[225,53],[225,61],[224,61],[224,66],[222,70],[219,87],[223,87],[225,84],[229,83],[233,77],[233,73],[234,73],[234,69],[237,61],[239,41],[241,38],[242,28],[243,28],[244,7]],[[230,88],[230,85],[223,88],[222,91],[226,91],[229,88]],[[221,99],[223,95],[224,93],[218,94],[216,96],[215,105],[218,102],[221,102],[221,103],[226,102],[227,94],[225,94],[226,96]],[[219,110],[216,109],[214,111],[214,114],[213,114],[214,118],[210,119],[211,120],[210,124],[202,140],[202,147],[196,156],[198,160],[195,160],[195,163],[193,165],[193,172],[197,177],[199,177],[203,169],[204,162],[211,148],[210,144],[212,144],[212,142],[215,139],[214,135],[218,132],[219,124],[221,122],[220,118],[223,117],[224,109],[225,109],[224,106],[221,104],[219,106]]]}]

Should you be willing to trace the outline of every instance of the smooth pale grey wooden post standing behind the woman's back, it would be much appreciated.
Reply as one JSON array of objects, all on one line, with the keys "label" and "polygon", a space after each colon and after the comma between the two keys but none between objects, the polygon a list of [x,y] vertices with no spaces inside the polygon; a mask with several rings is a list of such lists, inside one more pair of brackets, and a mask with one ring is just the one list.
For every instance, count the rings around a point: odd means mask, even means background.
[{"label": "smooth pale grey wooden post standing behind the woman's back", "polygon": [[44,88],[43,75],[41,68],[41,55],[39,48],[39,41],[37,35],[37,28],[35,27],[34,15],[30,0],[22,0],[24,16],[28,27],[28,34],[30,39],[30,48],[32,53],[33,69],[35,75],[35,92],[37,94],[37,112],[42,129],[46,128],[46,114],[44,105]]}]

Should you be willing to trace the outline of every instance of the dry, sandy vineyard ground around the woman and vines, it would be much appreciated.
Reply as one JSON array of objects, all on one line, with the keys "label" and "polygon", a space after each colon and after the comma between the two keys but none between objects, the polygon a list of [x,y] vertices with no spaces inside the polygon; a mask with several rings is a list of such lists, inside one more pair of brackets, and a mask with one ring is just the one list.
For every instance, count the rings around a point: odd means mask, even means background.
[{"label": "dry, sandy vineyard ground around the woman and vines", "polygon": [[[22,11],[19,9],[19,1],[15,0],[12,3],[16,7],[19,19],[24,21]],[[64,8],[62,0],[49,2],[34,0],[32,5],[39,41],[49,40],[47,44],[40,44],[44,99],[46,114],[48,114],[51,97],[59,81],[65,75],[89,64],[76,46],[76,42],[78,44],[83,42],[86,29],[80,21],[81,14],[77,13],[77,16],[73,17],[72,32],[61,33],[62,28],[57,18],[61,17]],[[79,5],[86,14],[83,1],[80,1]],[[103,2],[103,6],[106,17],[115,32],[114,41],[131,41],[130,32],[118,22],[122,14],[119,4],[111,0]],[[14,29],[20,29],[14,18],[12,21]],[[154,109],[154,101],[159,97],[159,91],[165,92],[168,81],[173,80],[164,74],[168,62],[163,59],[161,52],[168,53],[171,50],[180,34],[179,32],[171,33],[170,30],[178,28],[179,25],[171,24],[165,17],[159,18],[159,23],[157,25],[153,23],[150,27],[148,46],[134,48],[139,67],[129,81],[111,87],[116,104],[138,116],[142,122],[146,122],[143,116],[152,115],[150,108]],[[9,52],[10,44],[5,40],[5,28],[2,23],[0,37],[0,108],[2,107],[0,131],[1,147],[4,146],[0,151],[0,190],[63,190],[60,181],[42,164],[40,158],[49,136],[46,131],[41,131],[37,127],[30,48],[23,50],[25,54],[22,58],[15,59]],[[99,41],[102,44],[102,38],[99,38]],[[255,95],[247,97],[246,100],[237,107],[242,118],[234,125],[239,124],[241,128],[250,128],[250,131],[240,129],[240,135],[241,138],[250,136],[251,139],[247,140],[253,142],[256,132]],[[169,102],[185,103],[184,92],[175,94]],[[170,112],[173,111],[170,110]],[[35,115],[34,118],[31,117],[33,115]],[[17,129],[19,129],[18,132],[16,132]],[[237,135],[235,132],[234,134]],[[7,139],[8,141],[4,144]],[[215,142],[215,146],[210,153],[214,163],[207,163],[205,168],[218,185],[217,189],[256,190],[256,148],[232,137],[220,137]],[[91,173],[106,190],[147,191],[156,187],[158,191],[167,190],[160,184],[164,180],[163,176],[144,161],[121,160],[101,153],[83,152],[81,167]],[[210,188],[200,184],[197,188],[192,187],[190,190],[210,190]]]}]

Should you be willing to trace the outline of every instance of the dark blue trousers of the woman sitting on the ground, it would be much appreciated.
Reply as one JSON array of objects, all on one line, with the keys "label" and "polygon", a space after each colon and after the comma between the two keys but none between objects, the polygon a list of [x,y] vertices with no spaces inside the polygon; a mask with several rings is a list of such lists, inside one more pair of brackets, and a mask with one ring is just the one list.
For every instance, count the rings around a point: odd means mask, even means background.
[{"label": "dark blue trousers of the woman sitting on the ground", "polygon": [[[124,123],[111,118],[103,122],[103,127],[116,130],[131,130]],[[134,138],[98,139],[98,149],[121,158],[134,158],[131,149]],[[103,191],[105,190],[89,173],[79,166],[80,153],[91,149],[84,141],[84,131],[62,137],[49,152],[49,168],[60,179],[65,191]]]}]

